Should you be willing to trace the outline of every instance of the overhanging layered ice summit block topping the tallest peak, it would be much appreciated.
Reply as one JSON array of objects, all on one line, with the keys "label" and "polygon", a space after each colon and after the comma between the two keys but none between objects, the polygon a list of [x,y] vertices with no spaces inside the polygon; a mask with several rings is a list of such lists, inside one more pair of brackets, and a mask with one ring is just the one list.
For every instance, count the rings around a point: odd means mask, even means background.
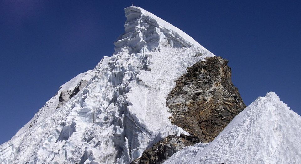
[{"label": "overhanging layered ice summit block topping the tallest peak", "polygon": [[125,33],[114,42],[114,54],[119,51],[128,51],[129,54],[156,51],[159,45],[176,48],[193,46],[202,54],[211,54],[182,30],[140,7],[125,8],[125,16]]}]

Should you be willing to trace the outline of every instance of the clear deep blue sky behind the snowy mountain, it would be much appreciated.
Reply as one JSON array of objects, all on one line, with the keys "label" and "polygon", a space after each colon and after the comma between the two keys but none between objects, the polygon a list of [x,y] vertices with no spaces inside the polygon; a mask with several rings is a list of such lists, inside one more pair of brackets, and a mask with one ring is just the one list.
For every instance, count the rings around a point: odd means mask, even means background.
[{"label": "clear deep blue sky behind the snowy mountain", "polygon": [[300,1],[0,1],[0,143],[114,52],[132,3],[228,59],[246,105],[274,91],[301,114]]}]

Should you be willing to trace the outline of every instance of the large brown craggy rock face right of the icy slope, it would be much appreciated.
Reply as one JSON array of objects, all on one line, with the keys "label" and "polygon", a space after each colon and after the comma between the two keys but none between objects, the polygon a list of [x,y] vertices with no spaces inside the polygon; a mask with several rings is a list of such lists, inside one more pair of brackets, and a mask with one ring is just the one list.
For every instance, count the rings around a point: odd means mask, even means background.
[{"label": "large brown craggy rock face right of the icy slope", "polygon": [[167,98],[171,122],[201,142],[212,141],[246,107],[227,63],[210,57],[188,67]]}]

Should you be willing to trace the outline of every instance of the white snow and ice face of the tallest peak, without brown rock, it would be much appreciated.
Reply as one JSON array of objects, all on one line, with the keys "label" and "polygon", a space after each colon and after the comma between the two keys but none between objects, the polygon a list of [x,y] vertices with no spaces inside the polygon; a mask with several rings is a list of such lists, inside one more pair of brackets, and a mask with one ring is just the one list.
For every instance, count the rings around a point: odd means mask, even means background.
[{"label": "white snow and ice face of the tallest peak, without brown rock", "polygon": [[[125,14],[113,56],[64,84],[0,146],[0,163],[129,163],[162,137],[187,134],[170,123],[166,96],[187,67],[214,55],[150,12],[132,6]],[[60,92],[80,82],[59,104]]]}]

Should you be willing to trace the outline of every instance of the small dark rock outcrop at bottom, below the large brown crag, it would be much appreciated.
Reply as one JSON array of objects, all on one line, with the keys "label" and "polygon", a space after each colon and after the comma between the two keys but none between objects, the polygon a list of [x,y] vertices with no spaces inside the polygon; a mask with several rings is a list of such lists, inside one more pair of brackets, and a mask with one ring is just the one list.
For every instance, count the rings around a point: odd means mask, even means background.
[{"label": "small dark rock outcrop at bottom, below the large brown crag", "polygon": [[159,164],[165,162],[170,156],[177,151],[183,149],[185,146],[194,145],[199,142],[197,137],[186,136],[181,134],[180,137],[170,135],[165,137],[160,142],[153,145],[153,147],[146,149],[142,156],[133,161],[132,164]]}]

